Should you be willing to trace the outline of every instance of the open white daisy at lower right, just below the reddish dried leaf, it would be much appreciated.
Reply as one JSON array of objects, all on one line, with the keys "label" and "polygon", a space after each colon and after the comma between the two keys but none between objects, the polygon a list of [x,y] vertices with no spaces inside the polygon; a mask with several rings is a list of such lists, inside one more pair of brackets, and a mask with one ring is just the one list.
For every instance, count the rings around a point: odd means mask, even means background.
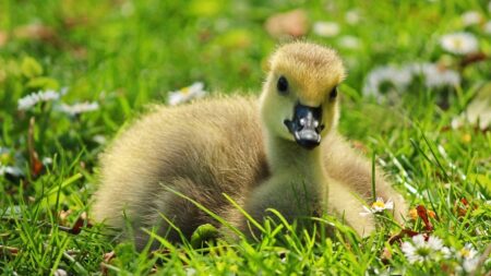
[{"label": "open white daisy at lower right, just below the reddish dried leaf", "polygon": [[448,251],[438,237],[430,237],[428,241],[424,241],[422,235],[412,237],[411,241],[403,242],[400,249],[411,264],[438,261]]}]

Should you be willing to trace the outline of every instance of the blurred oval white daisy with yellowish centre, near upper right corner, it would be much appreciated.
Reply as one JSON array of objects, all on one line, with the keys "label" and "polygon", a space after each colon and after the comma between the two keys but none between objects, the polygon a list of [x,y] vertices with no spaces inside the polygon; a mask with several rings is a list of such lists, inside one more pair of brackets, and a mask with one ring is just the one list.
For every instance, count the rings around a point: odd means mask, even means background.
[{"label": "blurred oval white daisy with yellowish centre, near upper right corner", "polygon": [[466,32],[444,35],[440,38],[440,45],[445,51],[457,55],[467,55],[479,50],[476,36]]}]

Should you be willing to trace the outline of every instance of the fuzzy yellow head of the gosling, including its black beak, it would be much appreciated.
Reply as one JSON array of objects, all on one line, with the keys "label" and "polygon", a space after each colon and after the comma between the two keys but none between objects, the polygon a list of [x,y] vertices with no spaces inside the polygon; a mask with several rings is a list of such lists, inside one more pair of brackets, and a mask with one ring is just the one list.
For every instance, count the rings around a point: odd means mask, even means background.
[{"label": "fuzzy yellow head of the gosling, including its black beak", "polygon": [[314,148],[337,123],[337,86],[345,69],[337,53],[315,44],[280,46],[268,61],[261,116],[270,134]]}]

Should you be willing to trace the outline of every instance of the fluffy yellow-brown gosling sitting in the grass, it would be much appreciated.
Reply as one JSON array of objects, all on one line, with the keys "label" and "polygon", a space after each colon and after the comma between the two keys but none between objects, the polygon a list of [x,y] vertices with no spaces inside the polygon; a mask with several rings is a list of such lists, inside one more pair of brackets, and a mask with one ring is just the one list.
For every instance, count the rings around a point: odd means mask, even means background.
[{"label": "fluffy yellow-brown gosling sitting in the grass", "polygon": [[[220,228],[178,192],[250,236],[225,193],[259,221],[274,216],[268,208],[288,221],[330,213],[370,235],[373,217],[359,213],[371,195],[372,169],[336,132],[344,77],[334,50],[295,41],[271,57],[259,100],[232,96],[156,108],[101,156],[95,219],[119,229],[129,223],[139,248],[148,241],[143,228],[170,241],[180,240],[173,227],[188,238],[203,224]],[[394,202],[402,221],[404,199],[379,170],[375,179],[378,196]]]}]

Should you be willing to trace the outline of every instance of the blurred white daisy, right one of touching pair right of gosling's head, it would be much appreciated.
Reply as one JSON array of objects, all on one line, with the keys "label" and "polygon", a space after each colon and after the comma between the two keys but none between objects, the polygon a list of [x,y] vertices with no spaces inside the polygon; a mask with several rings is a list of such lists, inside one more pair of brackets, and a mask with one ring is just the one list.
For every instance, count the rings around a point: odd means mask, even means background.
[{"label": "blurred white daisy, right one of touching pair right of gosling's head", "polygon": [[414,75],[424,77],[424,85],[428,88],[457,86],[460,84],[460,75],[457,71],[439,67],[435,63],[410,63],[407,67]]}]

